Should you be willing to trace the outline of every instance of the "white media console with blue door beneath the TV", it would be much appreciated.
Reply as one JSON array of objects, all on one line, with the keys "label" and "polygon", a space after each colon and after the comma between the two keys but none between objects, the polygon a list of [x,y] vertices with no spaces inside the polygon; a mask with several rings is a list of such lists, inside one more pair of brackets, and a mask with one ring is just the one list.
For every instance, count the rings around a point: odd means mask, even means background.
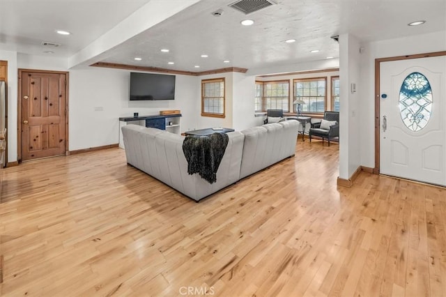
[{"label": "white media console with blue door beneath the TV", "polygon": [[121,128],[128,124],[144,125],[144,127],[158,128],[180,134],[181,114],[166,114],[153,116],[125,116],[119,118],[119,147],[124,148],[123,132]]}]

